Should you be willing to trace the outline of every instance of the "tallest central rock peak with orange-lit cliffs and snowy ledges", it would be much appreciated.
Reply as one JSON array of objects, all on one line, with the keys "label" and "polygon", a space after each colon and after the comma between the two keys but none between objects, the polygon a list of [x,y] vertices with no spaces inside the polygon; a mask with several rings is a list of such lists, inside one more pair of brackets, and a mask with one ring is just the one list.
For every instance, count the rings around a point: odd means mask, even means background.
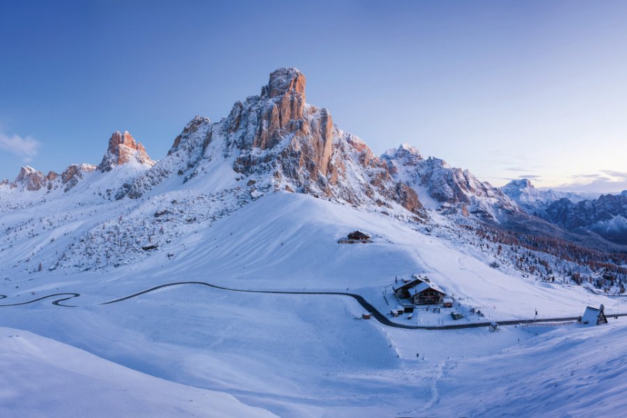
[{"label": "tallest central rock peak with orange-lit cliffs and snowy ledges", "polygon": [[138,197],[175,173],[183,181],[232,161],[241,178],[351,205],[403,206],[426,218],[417,194],[398,185],[387,162],[339,130],[327,109],[305,102],[306,79],[296,68],[270,74],[261,95],[235,102],[217,123],[196,116],[176,137],[168,157],[135,178],[117,197]]}]

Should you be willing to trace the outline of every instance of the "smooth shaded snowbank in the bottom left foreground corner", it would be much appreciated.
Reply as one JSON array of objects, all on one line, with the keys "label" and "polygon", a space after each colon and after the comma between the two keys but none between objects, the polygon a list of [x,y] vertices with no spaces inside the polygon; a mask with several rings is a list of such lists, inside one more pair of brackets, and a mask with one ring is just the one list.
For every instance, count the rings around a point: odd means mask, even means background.
[{"label": "smooth shaded snowbank in the bottom left foreground corner", "polygon": [[23,330],[0,327],[0,367],[3,417],[275,416]]}]

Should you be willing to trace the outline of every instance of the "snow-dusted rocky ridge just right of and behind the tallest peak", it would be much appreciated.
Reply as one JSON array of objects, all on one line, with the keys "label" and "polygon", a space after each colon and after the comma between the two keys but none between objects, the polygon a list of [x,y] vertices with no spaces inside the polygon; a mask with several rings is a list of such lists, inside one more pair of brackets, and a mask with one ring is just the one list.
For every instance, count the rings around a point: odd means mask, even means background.
[{"label": "snow-dusted rocky ridge just right of and behind the tallest peak", "polygon": [[439,158],[424,159],[408,144],[382,155],[394,180],[412,187],[419,196],[433,199],[433,209],[494,219],[516,204],[499,189],[479,181],[470,171],[450,167]]}]

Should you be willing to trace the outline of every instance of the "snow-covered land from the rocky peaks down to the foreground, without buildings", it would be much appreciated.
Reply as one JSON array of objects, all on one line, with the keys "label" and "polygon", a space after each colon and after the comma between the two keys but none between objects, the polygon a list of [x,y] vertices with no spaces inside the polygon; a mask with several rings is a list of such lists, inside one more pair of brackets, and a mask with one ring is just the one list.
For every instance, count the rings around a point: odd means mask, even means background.
[{"label": "snow-covered land from the rocky peaks down to the foreground, without buildings", "polygon": [[[98,165],[24,167],[0,183],[0,416],[622,416],[627,247],[516,190],[375,155],[295,68],[159,161],[115,132]],[[398,299],[413,277],[451,306]]]}]

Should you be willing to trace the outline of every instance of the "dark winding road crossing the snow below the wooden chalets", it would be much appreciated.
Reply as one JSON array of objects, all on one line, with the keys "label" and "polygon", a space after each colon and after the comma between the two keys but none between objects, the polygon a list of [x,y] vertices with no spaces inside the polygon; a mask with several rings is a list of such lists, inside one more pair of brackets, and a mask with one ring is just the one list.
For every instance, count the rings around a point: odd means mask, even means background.
[{"label": "dark winding road crossing the snow below the wooden chalets", "polygon": [[[219,289],[221,291],[229,291],[229,292],[241,292],[241,293],[265,293],[270,295],[333,295],[333,296],[348,296],[353,297],[353,299],[357,300],[360,305],[366,311],[368,311],[373,318],[379,321],[382,325],[386,325],[387,327],[394,328],[402,328],[405,330],[428,330],[428,331],[441,331],[441,330],[463,330],[465,328],[480,328],[480,327],[489,327],[492,323],[498,323],[499,325],[524,325],[524,324],[535,324],[535,323],[552,323],[552,322],[565,322],[571,320],[578,320],[579,316],[568,316],[562,318],[534,318],[534,319],[514,319],[514,320],[490,320],[489,322],[482,323],[462,323],[462,324],[451,324],[451,325],[409,325],[409,324],[400,324],[395,323],[392,320],[389,320],[387,316],[378,311],[375,307],[372,306],[367,300],[364,299],[361,295],[357,295],[355,293],[348,292],[306,292],[306,291],[250,291],[245,289],[235,289],[228,288],[224,286],[218,286],[217,284],[210,284],[206,281],[174,281],[171,283],[160,284],[159,286],[154,286],[148,288],[144,291],[139,291],[137,293],[132,293],[132,295],[127,295],[124,297],[119,297],[118,299],[109,300],[107,302],[101,302],[100,305],[114,304],[118,302],[123,302],[125,300],[132,299],[134,297],[138,297],[141,295],[146,295],[146,293],[150,293],[153,291],[157,291],[162,288],[167,288],[171,286],[181,286],[181,285],[198,285],[198,286],[206,286],[210,288]],[[46,295],[42,297],[38,297],[37,299],[29,300],[26,302],[12,303],[12,304],[0,304],[0,307],[16,307],[19,305],[31,304],[34,302],[39,302],[40,300],[49,299],[52,297],[63,296],[59,299],[53,300],[52,304],[59,307],[76,307],[76,305],[69,304],[61,304],[61,302],[65,302],[66,300],[70,300],[74,297],[79,297],[80,293],[53,293],[52,295]],[[6,298],[6,295],[0,295],[0,299]],[[627,316],[627,313],[623,314],[612,314],[613,316]]]}]

